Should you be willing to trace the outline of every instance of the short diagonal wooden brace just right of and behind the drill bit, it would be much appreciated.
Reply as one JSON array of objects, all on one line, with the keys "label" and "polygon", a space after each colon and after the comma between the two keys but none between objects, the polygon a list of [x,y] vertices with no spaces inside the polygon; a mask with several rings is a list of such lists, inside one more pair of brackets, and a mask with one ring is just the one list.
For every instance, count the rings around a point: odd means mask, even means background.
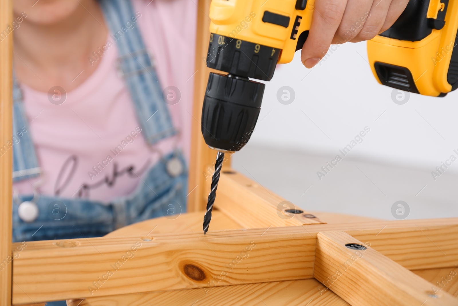
[{"label": "short diagonal wooden brace just right of and behind the drill bit", "polygon": [[317,217],[304,217],[310,215],[306,211],[285,213],[285,209],[303,210],[233,169],[221,172],[215,207],[244,228],[324,223]]}]

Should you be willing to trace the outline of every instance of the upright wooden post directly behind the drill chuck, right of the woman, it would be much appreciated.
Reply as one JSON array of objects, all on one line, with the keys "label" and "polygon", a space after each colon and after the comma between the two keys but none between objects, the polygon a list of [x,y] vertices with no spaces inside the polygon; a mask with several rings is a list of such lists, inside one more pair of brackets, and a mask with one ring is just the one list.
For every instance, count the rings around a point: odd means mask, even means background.
[{"label": "upright wooden post directly behind the drill chuck, right of the woman", "polygon": [[[198,0],[197,3],[197,33],[196,33],[196,74],[192,78],[194,81],[194,102],[192,106],[192,132],[191,132],[191,156],[189,165],[189,184],[187,211],[205,211],[209,188],[207,182],[211,180],[213,174],[216,151],[211,150],[205,144],[202,136],[202,104],[207,87],[208,74],[207,68],[208,41],[210,39],[210,11],[211,0]],[[224,164],[230,164],[225,161]],[[213,168],[214,169],[214,168]]]}]

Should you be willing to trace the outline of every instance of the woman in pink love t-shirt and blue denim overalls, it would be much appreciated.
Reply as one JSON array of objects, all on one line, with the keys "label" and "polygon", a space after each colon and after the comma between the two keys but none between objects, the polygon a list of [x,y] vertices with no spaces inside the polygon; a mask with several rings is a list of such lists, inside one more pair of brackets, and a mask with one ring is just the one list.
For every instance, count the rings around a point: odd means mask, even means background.
[{"label": "woman in pink love t-shirt and blue denim overalls", "polygon": [[196,6],[33,2],[14,6],[14,240],[184,211]]}]

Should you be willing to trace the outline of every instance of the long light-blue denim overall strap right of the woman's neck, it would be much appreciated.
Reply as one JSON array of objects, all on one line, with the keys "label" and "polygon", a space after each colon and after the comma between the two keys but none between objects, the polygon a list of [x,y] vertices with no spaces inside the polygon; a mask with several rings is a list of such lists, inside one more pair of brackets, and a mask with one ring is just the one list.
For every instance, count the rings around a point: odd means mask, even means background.
[{"label": "long light-blue denim overall strap right of the woman's neck", "polygon": [[141,15],[134,12],[130,0],[99,0],[99,3],[111,32],[110,40],[116,41],[119,70],[147,143],[153,145],[176,134],[152,58],[136,25]]}]

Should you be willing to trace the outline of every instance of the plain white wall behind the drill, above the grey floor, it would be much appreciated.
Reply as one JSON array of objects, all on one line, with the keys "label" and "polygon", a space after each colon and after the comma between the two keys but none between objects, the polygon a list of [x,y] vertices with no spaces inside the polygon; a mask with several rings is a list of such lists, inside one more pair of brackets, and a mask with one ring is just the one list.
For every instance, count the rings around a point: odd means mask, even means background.
[{"label": "plain white wall behind the drill, above the grey floor", "polygon": [[[295,91],[292,104],[277,100],[284,85]],[[334,155],[368,126],[352,158],[433,171],[458,150],[458,91],[444,98],[411,94],[404,105],[393,102],[392,91],[372,75],[365,42],[339,46],[312,69],[301,65],[298,51],[266,82],[250,144]],[[447,172],[458,172],[458,161]]]}]

